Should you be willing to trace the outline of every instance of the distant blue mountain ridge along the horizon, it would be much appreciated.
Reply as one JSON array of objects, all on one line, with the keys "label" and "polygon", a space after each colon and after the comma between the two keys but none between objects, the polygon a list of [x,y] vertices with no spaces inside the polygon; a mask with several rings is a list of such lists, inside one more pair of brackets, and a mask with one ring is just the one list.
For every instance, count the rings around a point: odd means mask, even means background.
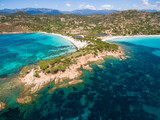
[{"label": "distant blue mountain ridge along the horizon", "polygon": [[[122,10],[92,10],[92,9],[77,9],[72,11],[60,11],[57,9],[49,9],[49,8],[22,8],[22,9],[3,9],[0,10],[0,15],[4,14],[13,14],[15,12],[22,11],[27,12],[29,14],[47,14],[47,15],[60,15],[60,14],[74,14],[74,15],[108,15],[110,13],[122,11]],[[159,12],[158,10],[139,10],[145,12]]]}]

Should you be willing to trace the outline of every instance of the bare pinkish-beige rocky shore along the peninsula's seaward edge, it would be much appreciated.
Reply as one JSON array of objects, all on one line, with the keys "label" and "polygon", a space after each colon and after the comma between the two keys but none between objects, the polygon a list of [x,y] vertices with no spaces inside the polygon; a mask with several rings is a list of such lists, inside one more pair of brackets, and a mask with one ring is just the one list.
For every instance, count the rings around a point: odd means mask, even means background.
[{"label": "bare pinkish-beige rocky shore along the peninsula's seaward edge", "polygon": [[[91,70],[87,63],[89,62],[104,62],[103,57],[113,56],[119,59],[125,59],[124,53],[122,49],[119,49],[118,52],[103,52],[98,53],[98,56],[94,56],[93,54],[87,54],[85,56],[81,56],[77,58],[77,64],[72,64],[66,71],[59,71],[56,74],[45,74],[43,72],[39,73],[40,78],[34,77],[35,70],[31,69],[30,72],[23,78],[19,78],[22,84],[24,84],[24,88],[21,91],[20,96],[17,98],[17,102],[20,104],[29,103],[32,101],[31,95],[40,91],[46,85],[51,82],[54,82],[54,86],[51,91],[54,91],[56,88],[67,87],[69,85],[77,84],[83,82],[78,78],[82,74],[82,71],[79,69],[83,67],[84,69]],[[69,80],[66,83],[66,80]],[[63,82],[65,81],[65,84]],[[57,86],[58,87],[55,87]]]}]

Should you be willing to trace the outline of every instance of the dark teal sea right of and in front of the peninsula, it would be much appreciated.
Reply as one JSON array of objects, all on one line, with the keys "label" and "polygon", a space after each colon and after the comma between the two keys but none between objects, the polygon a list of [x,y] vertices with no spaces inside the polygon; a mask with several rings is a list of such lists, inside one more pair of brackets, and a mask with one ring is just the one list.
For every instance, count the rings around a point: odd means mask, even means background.
[{"label": "dark teal sea right of and in front of the peninsula", "polygon": [[48,85],[30,104],[16,104],[21,88],[12,88],[12,97],[0,98],[9,104],[0,120],[160,120],[160,37],[108,42],[131,58],[105,58],[103,69],[90,64],[93,71],[82,69],[82,83],[52,94]]}]

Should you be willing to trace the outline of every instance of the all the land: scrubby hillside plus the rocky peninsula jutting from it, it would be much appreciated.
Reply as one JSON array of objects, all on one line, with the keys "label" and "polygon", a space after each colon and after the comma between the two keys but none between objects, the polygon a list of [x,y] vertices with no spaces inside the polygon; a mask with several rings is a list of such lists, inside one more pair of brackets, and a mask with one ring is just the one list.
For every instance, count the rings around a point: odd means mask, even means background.
[{"label": "all the land: scrubby hillside plus the rocky peninsula jutting from it", "polygon": [[[17,103],[30,103],[36,93],[50,83],[48,91],[83,82],[80,69],[91,70],[88,63],[103,62],[103,57],[126,59],[123,49],[116,44],[102,41],[108,36],[159,35],[159,12],[137,10],[115,12],[109,15],[30,15],[11,14],[0,16],[0,33],[51,33],[73,43],[77,51],[55,59],[25,66],[19,80],[23,89]],[[78,37],[77,37],[78,36]],[[103,36],[103,37],[102,37]],[[106,39],[105,38],[105,39]],[[103,66],[99,66],[103,67]]]}]

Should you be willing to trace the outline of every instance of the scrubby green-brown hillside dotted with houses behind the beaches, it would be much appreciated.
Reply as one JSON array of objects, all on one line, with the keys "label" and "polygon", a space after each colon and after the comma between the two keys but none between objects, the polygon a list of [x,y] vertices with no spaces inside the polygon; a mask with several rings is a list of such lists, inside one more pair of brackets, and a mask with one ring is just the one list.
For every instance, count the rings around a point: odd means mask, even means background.
[{"label": "scrubby green-brown hillside dotted with houses behind the beaches", "polygon": [[54,32],[98,36],[160,34],[160,12],[136,10],[109,15],[10,15],[0,16],[0,32]]}]

